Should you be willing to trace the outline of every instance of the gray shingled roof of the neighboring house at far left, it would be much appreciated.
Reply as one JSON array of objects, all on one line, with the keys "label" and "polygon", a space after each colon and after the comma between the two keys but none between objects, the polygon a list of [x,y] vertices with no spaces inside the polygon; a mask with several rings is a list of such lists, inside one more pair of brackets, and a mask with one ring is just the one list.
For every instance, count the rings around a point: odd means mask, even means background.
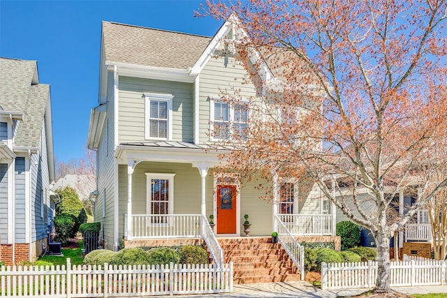
[{"label": "gray shingled roof of the neighboring house at far left", "polygon": [[38,84],[37,62],[0,58],[0,107],[24,112],[17,128],[15,145],[38,147],[50,85]]}]

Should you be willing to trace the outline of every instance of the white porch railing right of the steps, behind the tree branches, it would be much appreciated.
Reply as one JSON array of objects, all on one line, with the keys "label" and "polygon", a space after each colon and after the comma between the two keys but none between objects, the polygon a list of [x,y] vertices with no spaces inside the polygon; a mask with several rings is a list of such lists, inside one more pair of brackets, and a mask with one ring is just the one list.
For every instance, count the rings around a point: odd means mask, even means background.
[{"label": "white porch railing right of the steps, behind the tree branches", "polygon": [[294,236],[332,235],[332,214],[278,214],[277,216]]}]

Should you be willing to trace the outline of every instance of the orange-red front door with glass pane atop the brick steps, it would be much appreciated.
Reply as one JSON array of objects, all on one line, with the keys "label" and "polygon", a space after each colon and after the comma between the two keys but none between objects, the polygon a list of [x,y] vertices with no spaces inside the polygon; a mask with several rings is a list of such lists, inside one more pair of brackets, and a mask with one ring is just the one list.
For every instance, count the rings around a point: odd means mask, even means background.
[{"label": "orange-red front door with glass pane atop the brick steps", "polygon": [[217,186],[217,234],[236,233],[236,186]]}]

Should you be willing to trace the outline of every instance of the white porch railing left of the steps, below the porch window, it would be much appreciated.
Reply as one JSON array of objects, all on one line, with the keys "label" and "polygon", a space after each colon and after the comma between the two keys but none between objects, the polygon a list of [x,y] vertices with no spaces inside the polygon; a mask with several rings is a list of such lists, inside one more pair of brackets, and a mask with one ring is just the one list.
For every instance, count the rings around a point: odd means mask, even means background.
[{"label": "white porch railing left of the steps, below the porch window", "polygon": [[[124,218],[124,223],[127,223],[127,218]],[[132,214],[131,239],[200,238],[201,223],[200,214]],[[129,230],[126,225],[124,228],[126,232]]]}]

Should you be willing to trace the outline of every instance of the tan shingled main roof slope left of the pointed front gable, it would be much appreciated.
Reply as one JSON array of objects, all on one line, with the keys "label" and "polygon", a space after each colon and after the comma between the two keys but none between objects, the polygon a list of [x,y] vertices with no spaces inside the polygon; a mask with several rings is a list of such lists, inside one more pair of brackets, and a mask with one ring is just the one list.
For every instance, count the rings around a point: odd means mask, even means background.
[{"label": "tan shingled main roof slope left of the pointed front gable", "polygon": [[105,61],[186,69],[211,37],[103,21]]}]

